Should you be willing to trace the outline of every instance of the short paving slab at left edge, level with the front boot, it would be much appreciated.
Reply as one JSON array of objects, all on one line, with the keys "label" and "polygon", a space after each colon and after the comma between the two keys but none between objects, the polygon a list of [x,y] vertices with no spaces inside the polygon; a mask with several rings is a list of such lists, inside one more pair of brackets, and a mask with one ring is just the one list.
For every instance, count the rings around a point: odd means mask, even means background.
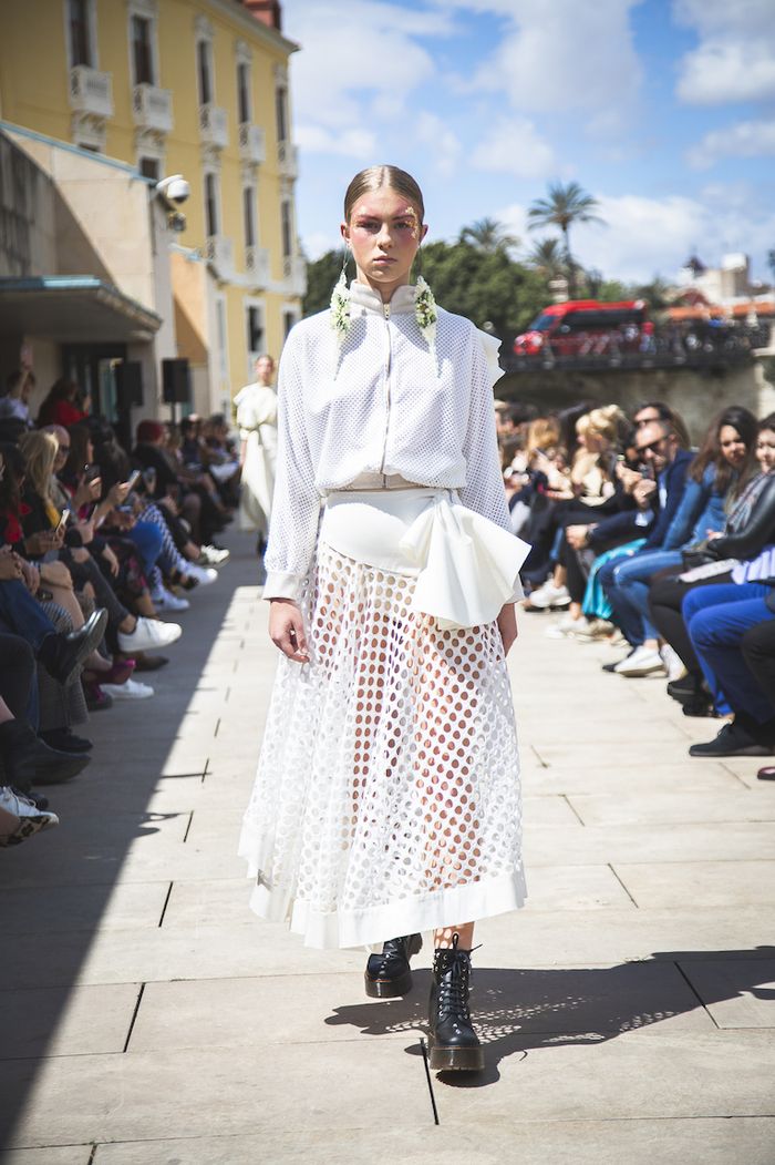
[{"label": "short paving slab at left edge, level with the front boot", "polygon": [[140,983],[0,991],[0,1058],[123,1052]]}]

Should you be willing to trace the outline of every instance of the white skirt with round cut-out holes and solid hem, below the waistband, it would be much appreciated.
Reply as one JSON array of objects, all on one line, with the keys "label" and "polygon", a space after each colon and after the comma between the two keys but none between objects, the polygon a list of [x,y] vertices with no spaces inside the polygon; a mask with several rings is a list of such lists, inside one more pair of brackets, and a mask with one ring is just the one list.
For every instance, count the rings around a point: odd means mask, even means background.
[{"label": "white skirt with round cut-out holes and solid hem, below the waistband", "polygon": [[280,657],[240,854],[311,947],[522,905],[519,758],[495,622],[441,629],[414,578],[319,542],[311,663]]}]

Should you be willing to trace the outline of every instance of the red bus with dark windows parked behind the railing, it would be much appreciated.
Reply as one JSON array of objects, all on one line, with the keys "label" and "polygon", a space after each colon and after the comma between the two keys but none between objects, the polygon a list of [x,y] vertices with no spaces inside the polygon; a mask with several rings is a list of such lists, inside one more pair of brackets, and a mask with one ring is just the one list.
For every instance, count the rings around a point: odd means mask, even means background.
[{"label": "red bus with dark windows parked behind the railing", "polygon": [[528,330],[514,340],[518,356],[600,355],[638,352],[648,318],[645,299],[602,303],[569,299],[545,308]]}]

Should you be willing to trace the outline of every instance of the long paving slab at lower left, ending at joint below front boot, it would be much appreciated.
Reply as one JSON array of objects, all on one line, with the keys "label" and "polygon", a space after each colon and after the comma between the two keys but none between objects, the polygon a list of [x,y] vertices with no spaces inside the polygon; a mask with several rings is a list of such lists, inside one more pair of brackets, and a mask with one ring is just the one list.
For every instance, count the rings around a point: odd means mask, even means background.
[{"label": "long paving slab at lower left, ending at joint below front boot", "polygon": [[[275,1129],[372,1128],[376,1099],[400,1143],[428,1127],[432,1110],[412,1039],[74,1055],[0,1062],[0,1120],[35,1082],[13,1148]],[[142,1158],[141,1158],[142,1160]]]}]

